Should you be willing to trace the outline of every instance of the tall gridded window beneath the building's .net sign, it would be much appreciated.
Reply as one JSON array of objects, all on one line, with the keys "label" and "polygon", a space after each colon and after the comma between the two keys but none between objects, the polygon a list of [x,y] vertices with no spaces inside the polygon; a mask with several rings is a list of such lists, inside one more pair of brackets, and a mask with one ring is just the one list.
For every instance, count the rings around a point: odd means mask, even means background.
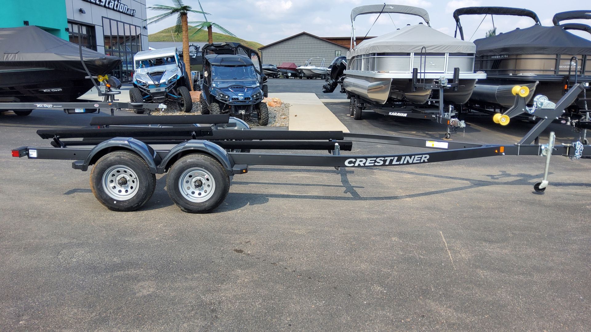
[{"label": "tall gridded window beneath the building's .net sign", "polygon": [[121,82],[130,82],[134,72],[134,55],[142,50],[141,28],[103,17],[103,33],[105,54],[121,58],[121,66],[113,70],[113,76]]}]

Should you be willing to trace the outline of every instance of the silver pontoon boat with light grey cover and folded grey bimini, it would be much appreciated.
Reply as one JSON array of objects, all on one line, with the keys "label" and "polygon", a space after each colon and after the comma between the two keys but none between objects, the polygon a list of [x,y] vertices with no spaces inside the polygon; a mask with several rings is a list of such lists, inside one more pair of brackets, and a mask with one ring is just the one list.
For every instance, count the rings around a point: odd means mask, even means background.
[{"label": "silver pontoon boat with light grey cover and folded grey bimini", "polygon": [[[363,14],[398,13],[423,18],[417,25],[407,25],[376,38],[355,44],[355,18]],[[447,89],[443,100],[450,104],[467,102],[476,80],[486,74],[474,73],[476,45],[458,40],[430,27],[423,8],[404,5],[366,5],[351,12],[351,50],[343,88],[350,93],[384,105],[388,99],[417,104],[426,103],[434,82],[454,79],[458,69],[459,86]],[[416,87],[413,71],[425,87]]]}]

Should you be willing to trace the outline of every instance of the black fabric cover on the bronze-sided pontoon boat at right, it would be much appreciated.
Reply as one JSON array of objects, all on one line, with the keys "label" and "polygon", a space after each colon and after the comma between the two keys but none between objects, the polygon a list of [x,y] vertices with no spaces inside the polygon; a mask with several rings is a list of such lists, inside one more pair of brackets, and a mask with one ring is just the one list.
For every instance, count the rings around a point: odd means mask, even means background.
[{"label": "black fabric cover on the bronze-sided pontoon boat at right", "polygon": [[476,56],[504,54],[591,54],[591,41],[558,25],[533,25],[474,41]]}]

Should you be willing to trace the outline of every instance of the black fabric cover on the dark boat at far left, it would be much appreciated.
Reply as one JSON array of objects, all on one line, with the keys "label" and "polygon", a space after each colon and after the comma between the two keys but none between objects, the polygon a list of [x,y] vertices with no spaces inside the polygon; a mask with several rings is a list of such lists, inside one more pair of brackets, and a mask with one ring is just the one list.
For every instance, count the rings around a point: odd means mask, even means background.
[{"label": "black fabric cover on the dark boat at far left", "polygon": [[[70,43],[33,25],[0,28],[0,65],[35,66],[86,73],[77,44]],[[93,75],[110,73],[121,58],[82,47],[82,57]]]}]

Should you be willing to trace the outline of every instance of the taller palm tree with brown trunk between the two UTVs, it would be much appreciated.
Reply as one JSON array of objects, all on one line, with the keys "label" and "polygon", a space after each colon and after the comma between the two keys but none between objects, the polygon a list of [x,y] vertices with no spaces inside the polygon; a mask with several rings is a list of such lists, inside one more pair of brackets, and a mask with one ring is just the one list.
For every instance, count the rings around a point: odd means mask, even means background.
[{"label": "taller palm tree with brown trunk between the two UTVs", "polygon": [[[162,21],[163,19],[173,17],[176,15],[177,24],[174,26],[174,33],[176,35],[183,35],[183,62],[187,70],[187,77],[191,82],[191,62],[189,58],[189,25],[187,23],[187,14],[190,12],[195,14],[211,15],[203,11],[194,11],[191,6],[183,4],[183,0],[173,0],[174,6],[165,5],[153,5],[148,7],[153,11],[163,11],[163,14],[156,15],[155,17],[148,18],[148,24],[154,24]],[[199,4],[201,6],[201,4]],[[193,91],[193,84],[189,84],[190,91]]]}]

